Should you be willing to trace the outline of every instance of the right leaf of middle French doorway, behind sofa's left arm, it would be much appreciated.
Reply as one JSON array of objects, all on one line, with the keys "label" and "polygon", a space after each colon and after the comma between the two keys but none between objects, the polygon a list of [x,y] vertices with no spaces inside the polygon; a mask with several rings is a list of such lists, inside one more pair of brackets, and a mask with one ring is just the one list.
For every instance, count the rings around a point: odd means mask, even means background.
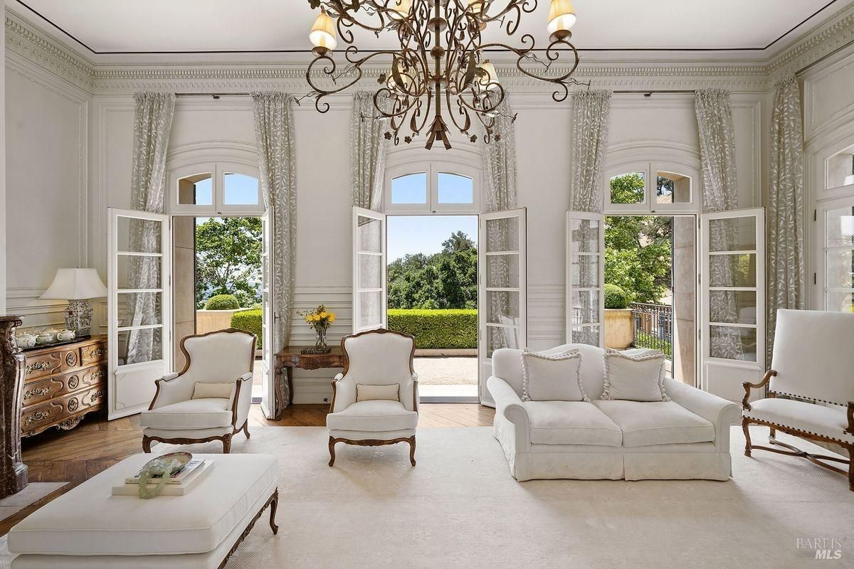
[{"label": "right leaf of middle French doorway, behind sofa's left arm", "polygon": [[477,342],[481,404],[494,407],[486,389],[492,352],[528,345],[528,284],[524,207],[482,213],[478,222]]}]

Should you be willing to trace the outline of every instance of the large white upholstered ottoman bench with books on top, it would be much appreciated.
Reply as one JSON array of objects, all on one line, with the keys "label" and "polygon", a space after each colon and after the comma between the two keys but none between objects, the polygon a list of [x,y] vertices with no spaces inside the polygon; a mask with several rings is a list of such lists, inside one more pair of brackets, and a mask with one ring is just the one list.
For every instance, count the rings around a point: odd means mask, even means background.
[{"label": "large white upholstered ottoman bench with books on top", "polygon": [[278,531],[274,456],[194,455],[214,464],[184,496],[112,496],[151,458],[130,456],[15,525],[12,569],[218,569],[267,506]]}]

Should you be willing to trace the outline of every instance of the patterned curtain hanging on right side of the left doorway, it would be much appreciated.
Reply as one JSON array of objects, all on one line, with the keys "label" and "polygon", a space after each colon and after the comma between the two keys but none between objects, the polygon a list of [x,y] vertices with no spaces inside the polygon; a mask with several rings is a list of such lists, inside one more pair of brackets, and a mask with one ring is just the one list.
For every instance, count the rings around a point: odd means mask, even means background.
[{"label": "patterned curtain hanging on right side of the left doorway", "polygon": [[[296,255],[296,174],[293,97],[280,92],[252,93],[255,140],[258,145],[261,193],[272,221],[273,344],[278,351],[290,342],[290,312],[294,300]],[[283,409],[290,398],[287,382]]]}]

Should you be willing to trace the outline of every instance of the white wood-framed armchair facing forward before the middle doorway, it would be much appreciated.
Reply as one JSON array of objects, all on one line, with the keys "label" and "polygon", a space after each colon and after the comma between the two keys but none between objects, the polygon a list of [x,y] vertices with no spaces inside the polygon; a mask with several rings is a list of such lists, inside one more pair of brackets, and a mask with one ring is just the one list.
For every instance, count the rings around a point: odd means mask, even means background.
[{"label": "white wood-framed armchair facing forward before the middle doorway", "polygon": [[344,372],[332,382],[326,415],[329,466],[335,444],[359,446],[409,443],[415,466],[418,426],[418,375],[412,368],[415,339],[380,328],[341,340]]}]

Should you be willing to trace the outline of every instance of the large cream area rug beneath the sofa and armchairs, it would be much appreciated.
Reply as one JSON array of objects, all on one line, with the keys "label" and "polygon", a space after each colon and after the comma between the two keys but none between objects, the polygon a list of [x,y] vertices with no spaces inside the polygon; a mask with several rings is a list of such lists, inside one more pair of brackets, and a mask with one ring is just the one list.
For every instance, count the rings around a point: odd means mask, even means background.
[{"label": "large cream area rug beneath the sofa and armchairs", "polygon": [[[767,433],[757,427],[754,442]],[[278,456],[280,529],[262,518],[228,568],[786,569],[816,564],[816,538],[840,550],[819,565],[854,566],[847,479],[804,459],[746,458],[740,427],[732,434],[727,482],[518,483],[488,427],[419,430],[416,467],[405,444],[339,444],[332,468],[325,429],[257,428],[232,451]]]}]

